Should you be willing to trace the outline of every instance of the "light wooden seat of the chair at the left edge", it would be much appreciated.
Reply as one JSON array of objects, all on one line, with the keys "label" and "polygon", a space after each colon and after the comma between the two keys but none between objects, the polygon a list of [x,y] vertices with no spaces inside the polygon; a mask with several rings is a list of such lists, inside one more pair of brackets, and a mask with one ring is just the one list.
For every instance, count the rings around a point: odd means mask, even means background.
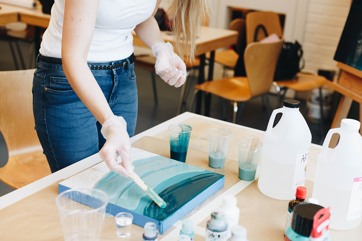
[{"label": "light wooden seat of the chair at the left edge", "polygon": [[0,168],[0,180],[16,189],[50,174],[42,150],[9,156],[8,163]]}]

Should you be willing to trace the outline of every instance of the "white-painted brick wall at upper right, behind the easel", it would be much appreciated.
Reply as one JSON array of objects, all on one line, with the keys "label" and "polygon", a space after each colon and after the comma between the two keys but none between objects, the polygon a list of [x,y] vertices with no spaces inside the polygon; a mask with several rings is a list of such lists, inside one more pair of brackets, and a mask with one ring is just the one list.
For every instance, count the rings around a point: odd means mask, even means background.
[{"label": "white-painted brick wall at upper right, behind the easel", "polygon": [[[337,70],[333,60],[352,0],[310,0],[304,34],[304,69]],[[362,14],[362,13],[361,13]]]}]

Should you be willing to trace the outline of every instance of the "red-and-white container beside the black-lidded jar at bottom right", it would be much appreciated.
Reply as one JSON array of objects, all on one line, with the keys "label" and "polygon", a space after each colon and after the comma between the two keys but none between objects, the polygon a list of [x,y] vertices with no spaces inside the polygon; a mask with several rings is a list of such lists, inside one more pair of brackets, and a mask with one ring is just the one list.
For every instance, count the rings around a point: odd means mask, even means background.
[{"label": "red-and-white container beside the black-lidded jar at bottom right", "polygon": [[313,229],[309,237],[310,241],[331,241],[328,230],[329,216],[329,207],[316,212],[313,218]]}]

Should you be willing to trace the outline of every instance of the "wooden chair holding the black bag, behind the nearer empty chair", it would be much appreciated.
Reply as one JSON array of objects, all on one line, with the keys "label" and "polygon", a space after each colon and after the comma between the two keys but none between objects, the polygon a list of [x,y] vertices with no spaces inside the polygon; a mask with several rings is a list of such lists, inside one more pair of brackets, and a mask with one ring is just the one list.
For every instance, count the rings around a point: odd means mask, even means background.
[{"label": "wooden chair holding the black bag, behind the nearer empty chair", "polygon": [[[282,36],[282,27],[279,22],[278,14],[273,12],[249,12],[246,16],[246,32],[247,43],[254,41],[255,29],[258,25],[264,25],[268,34],[276,33],[279,37]],[[264,38],[264,33],[259,31],[257,40]],[[327,79],[323,76],[315,74],[297,73],[295,79],[283,79],[273,82],[273,86],[277,90],[278,95],[278,107],[283,102],[287,89],[295,91],[311,91],[319,88],[320,93],[320,115],[321,115],[321,138],[324,137],[324,125],[323,125],[323,101],[321,95],[321,88]],[[281,94],[283,91],[283,94]]]}]

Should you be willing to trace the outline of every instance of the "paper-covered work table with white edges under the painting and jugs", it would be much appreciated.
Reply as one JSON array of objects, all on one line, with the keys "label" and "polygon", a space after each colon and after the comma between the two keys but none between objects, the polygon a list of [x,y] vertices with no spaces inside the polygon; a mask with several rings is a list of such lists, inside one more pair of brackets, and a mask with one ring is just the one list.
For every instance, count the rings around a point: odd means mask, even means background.
[{"label": "paper-covered work table with white edges under the painting and jugs", "polygon": [[[167,128],[171,124],[181,122],[193,127],[188,157],[189,154],[198,156],[195,162],[200,163],[202,168],[210,169],[211,171],[226,176],[224,188],[220,189],[184,217],[194,222],[195,241],[205,239],[206,221],[210,219],[211,211],[221,205],[224,194],[235,195],[238,199],[237,205],[240,208],[239,224],[248,229],[248,239],[250,241],[284,240],[283,230],[288,201],[266,197],[259,191],[257,180],[241,181],[237,177],[236,141],[241,138],[253,137],[259,137],[262,141],[263,132],[185,112],[145,132],[135,135],[131,138],[132,146],[147,151],[152,149],[156,154],[169,156]],[[208,146],[206,130],[209,128],[225,128],[226,126],[231,126],[232,135],[225,168],[210,168],[207,166]],[[306,176],[306,186],[308,188],[307,198],[312,194],[317,154],[319,154],[320,148],[319,145],[314,144],[312,144],[310,148]],[[0,240],[9,240],[9,235],[15,237],[12,240],[20,240],[18,237],[26,237],[27,240],[62,240],[62,227],[60,226],[58,210],[55,205],[55,197],[58,192],[58,180],[73,176],[100,161],[101,158],[98,154],[92,155],[41,180],[0,197]],[[192,161],[193,160],[186,159],[186,163]],[[258,172],[256,177],[258,177]],[[51,207],[48,207],[49,205]],[[16,209],[14,210],[14,208]],[[43,208],[47,209],[43,210]],[[46,214],[43,212],[46,212]],[[24,220],[19,222],[19,216],[22,217],[22,214],[28,216],[24,216]],[[37,223],[33,220],[41,221]],[[47,227],[44,228],[43,225]],[[14,228],[16,232],[10,233],[8,229],[11,227],[16,227]],[[163,235],[160,235],[159,240],[177,240],[180,229],[181,221],[178,221],[167,229]],[[102,225],[101,240],[118,241],[119,237],[116,235],[115,230],[114,218],[106,217]],[[23,236],[24,232],[28,233]],[[132,224],[131,236],[127,238],[127,240],[140,240],[142,233],[143,228]],[[362,224],[351,231],[331,230],[331,236],[332,240],[358,240],[358,238],[362,236]]]}]

